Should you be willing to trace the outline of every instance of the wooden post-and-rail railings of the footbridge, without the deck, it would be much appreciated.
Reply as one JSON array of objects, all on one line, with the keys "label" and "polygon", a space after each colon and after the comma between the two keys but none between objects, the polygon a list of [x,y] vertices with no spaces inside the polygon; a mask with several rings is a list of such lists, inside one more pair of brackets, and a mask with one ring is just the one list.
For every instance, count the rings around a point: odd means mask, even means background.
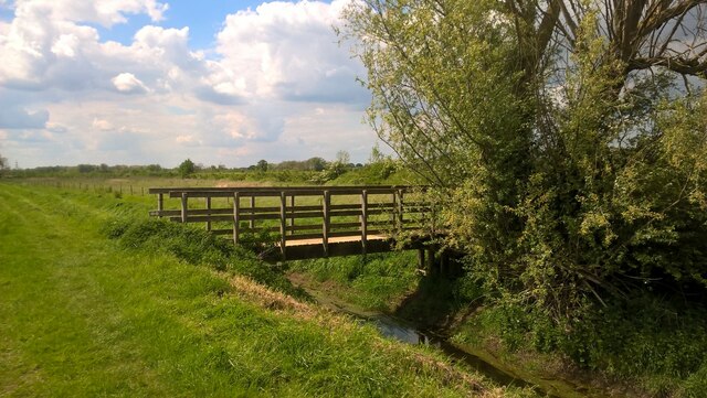
[{"label": "wooden post-and-rail railings of the footbridge, without the deck", "polygon": [[[335,237],[360,236],[361,251],[366,254],[369,236],[383,235],[386,230],[410,229],[410,224],[425,217],[430,212],[424,202],[413,202],[405,206],[403,197],[411,192],[425,191],[424,186],[410,185],[357,185],[357,186],[268,186],[268,187],[159,187],[149,189],[150,194],[158,196],[158,209],[151,216],[169,217],[181,223],[205,223],[211,229],[213,222],[232,222],[234,244],[240,244],[243,230],[279,232],[279,249],[283,258],[288,240],[318,239],[325,256],[328,252],[329,239]],[[163,196],[180,198],[179,209],[163,208]],[[390,195],[369,202],[369,195]],[[319,205],[295,205],[295,197],[319,196]],[[359,196],[359,204],[333,204],[333,196]],[[226,197],[233,201],[231,208],[212,208],[212,198]],[[279,203],[256,206],[256,197],[278,197]],[[189,208],[189,198],[205,198],[207,208]],[[250,206],[243,206],[243,198],[250,198]],[[287,203],[289,200],[289,203]],[[230,203],[231,201],[229,201]],[[388,216],[389,215],[389,216]],[[374,216],[377,218],[372,218]],[[405,219],[408,216],[408,219]],[[333,220],[337,218],[336,220]],[[339,217],[358,217],[358,222],[341,222]],[[386,220],[381,220],[386,217]],[[297,219],[321,218],[321,224],[295,225]],[[413,219],[414,218],[414,219]],[[261,226],[255,222],[278,220],[279,226]],[[349,218],[350,219],[350,218]],[[344,219],[346,220],[346,219]],[[247,223],[247,227],[242,227]],[[312,222],[307,222],[312,223]],[[342,230],[345,229],[345,230]],[[313,233],[319,230],[317,233]],[[298,233],[299,232],[299,233]],[[229,234],[228,229],[214,230],[218,235]]]}]

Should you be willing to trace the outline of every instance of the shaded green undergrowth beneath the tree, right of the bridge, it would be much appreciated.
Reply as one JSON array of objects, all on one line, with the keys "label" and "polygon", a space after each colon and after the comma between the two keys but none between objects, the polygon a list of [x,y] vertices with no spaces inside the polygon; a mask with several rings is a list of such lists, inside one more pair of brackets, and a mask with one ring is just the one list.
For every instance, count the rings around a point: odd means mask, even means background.
[{"label": "shaded green undergrowth beneath the tree, right of the bridge", "polygon": [[704,387],[707,310],[700,305],[644,294],[585,308],[557,322],[506,298],[482,311],[472,325],[456,338],[472,344],[499,338],[509,352],[561,353],[581,367],[641,380],[656,395],[687,397]]}]

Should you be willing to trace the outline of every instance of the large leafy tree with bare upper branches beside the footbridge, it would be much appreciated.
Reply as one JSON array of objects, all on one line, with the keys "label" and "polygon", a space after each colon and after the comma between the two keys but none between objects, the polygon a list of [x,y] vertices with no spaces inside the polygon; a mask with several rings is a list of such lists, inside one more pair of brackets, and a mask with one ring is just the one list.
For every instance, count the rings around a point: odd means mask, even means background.
[{"label": "large leafy tree with bare upper branches beside the footbridge", "polygon": [[369,120],[437,189],[447,244],[560,313],[635,280],[707,286],[705,11],[365,0],[344,32]]}]

